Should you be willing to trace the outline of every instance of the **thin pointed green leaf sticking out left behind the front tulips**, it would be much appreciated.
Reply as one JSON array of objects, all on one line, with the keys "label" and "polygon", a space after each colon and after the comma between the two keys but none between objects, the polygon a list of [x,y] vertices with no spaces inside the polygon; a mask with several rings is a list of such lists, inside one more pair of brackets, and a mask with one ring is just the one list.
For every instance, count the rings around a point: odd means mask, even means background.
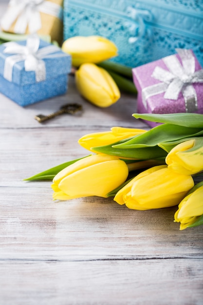
[{"label": "thin pointed green leaf sticking out left behind the front tulips", "polygon": [[46,170],[44,172],[39,172],[36,175],[31,176],[31,177],[26,178],[26,179],[23,179],[23,180],[24,181],[53,180],[55,175],[58,172],[62,171],[63,169],[65,169],[69,165],[74,164],[76,161],[79,161],[79,160],[84,159],[86,157],[88,157],[88,156],[85,156],[85,157],[82,157],[82,158],[79,158],[79,159],[75,159],[75,160],[72,160],[72,161],[69,161],[69,162],[62,163],[62,164],[57,165],[57,166],[55,166],[55,167],[53,167],[49,170]]}]

